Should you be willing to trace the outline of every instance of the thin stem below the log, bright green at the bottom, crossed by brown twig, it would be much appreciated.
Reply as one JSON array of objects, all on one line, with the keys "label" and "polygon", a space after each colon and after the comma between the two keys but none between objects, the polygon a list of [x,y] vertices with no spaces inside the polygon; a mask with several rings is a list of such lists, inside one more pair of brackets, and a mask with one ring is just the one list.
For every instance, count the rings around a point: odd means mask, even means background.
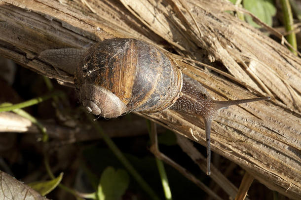
[{"label": "thin stem below the log, bright green at the bottom, crossed by brown twig", "polygon": [[[153,121],[147,120],[147,125],[148,125],[148,131],[149,131],[149,134],[150,134],[151,144],[156,145],[156,148],[159,149],[158,144],[155,144],[155,143],[157,143],[156,124]],[[155,158],[155,160],[156,160],[158,171],[159,171],[159,174],[160,174],[160,177],[161,177],[161,183],[162,183],[165,199],[166,200],[172,200],[172,195],[171,195],[171,191],[170,191],[170,187],[169,187],[168,178],[167,178],[167,175],[166,175],[164,163],[163,163],[162,160],[159,160],[157,158]]]}]

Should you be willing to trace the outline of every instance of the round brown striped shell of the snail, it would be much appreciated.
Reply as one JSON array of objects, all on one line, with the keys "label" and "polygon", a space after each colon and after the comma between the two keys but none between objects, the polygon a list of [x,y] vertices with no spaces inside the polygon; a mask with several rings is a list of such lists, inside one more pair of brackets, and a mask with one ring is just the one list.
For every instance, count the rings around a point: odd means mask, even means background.
[{"label": "round brown striped shell of the snail", "polygon": [[155,46],[136,39],[92,45],[75,72],[79,99],[87,111],[106,118],[168,109],[178,99],[182,73]]}]

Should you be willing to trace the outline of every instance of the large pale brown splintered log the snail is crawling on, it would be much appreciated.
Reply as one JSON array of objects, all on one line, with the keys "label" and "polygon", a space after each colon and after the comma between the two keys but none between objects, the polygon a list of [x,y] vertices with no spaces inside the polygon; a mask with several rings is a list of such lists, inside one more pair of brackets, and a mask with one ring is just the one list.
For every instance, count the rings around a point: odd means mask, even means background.
[{"label": "large pale brown splintered log the snail is crawling on", "polygon": [[[0,54],[72,85],[72,75],[38,58],[41,51],[139,38],[175,50],[181,56],[169,55],[183,73],[218,100],[270,95],[268,102],[221,111],[212,124],[212,150],[271,190],[300,199],[301,59],[225,12],[234,9],[224,0],[2,0]],[[205,145],[203,121],[194,116],[139,115]]]}]

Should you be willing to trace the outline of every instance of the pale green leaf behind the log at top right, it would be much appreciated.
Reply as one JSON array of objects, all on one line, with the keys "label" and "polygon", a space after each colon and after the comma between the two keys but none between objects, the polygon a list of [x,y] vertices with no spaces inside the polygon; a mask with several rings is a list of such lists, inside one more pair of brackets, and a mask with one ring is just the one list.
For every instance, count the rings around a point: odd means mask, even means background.
[{"label": "pale green leaf behind the log at top right", "polygon": [[[272,26],[272,17],[276,14],[273,0],[243,0],[243,7],[267,25]],[[260,27],[249,15],[246,15],[246,21],[253,27]]]}]

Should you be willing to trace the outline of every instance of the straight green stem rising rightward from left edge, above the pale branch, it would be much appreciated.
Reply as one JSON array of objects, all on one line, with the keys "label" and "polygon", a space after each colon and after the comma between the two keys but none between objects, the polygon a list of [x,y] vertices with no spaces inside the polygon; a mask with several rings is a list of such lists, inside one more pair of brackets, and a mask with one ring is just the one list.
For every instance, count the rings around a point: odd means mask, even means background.
[{"label": "straight green stem rising rightward from left edge, above the pale branch", "polygon": [[15,109],[20,109],[20,108],[25,108],[25,107],[28,107],[28,106],[33,106],[35,104],[38,104],[38,103],[40,103],[42,101],[45,101],[49,98],[52,98],[54,96],[63,96],[63,95],[64,95],[64,93],[62,91],[54,91],[54,92],[51,92],[49,94],[45,94],[43,96],[40,96],[40,97],[37,97],[37,98],[34,98],[34,99],[30,99],[28,101],[24,101],[24,102],[19,103],[19,104],[0,107],[0,112],[12,111],[12,110],[15,110]]}]

